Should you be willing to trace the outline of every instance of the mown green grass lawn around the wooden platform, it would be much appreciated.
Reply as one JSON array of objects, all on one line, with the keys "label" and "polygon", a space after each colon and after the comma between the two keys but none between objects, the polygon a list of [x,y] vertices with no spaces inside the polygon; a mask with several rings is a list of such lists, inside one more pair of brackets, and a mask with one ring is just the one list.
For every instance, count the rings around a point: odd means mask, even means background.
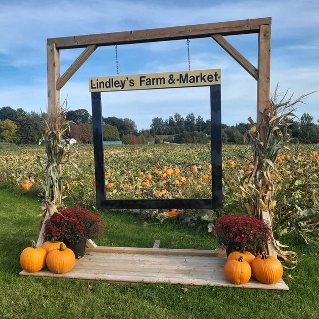
[{"label": "mown green grass lawn around the wooden platform", "polygon": [[[300,252],[295,269],[286,270],[289,291],[173,285],[122,285],[19,277],[19,254],[38,234],[39,199],[0,189],[0,318],[318,318],[319,241],[305,245],[293,235],[282,239]],[[177,222],[143,226],[138,215],[101,212],[106,230],[100,245],[212,248],[205,226]],[[292,278],[289,278],[288,276]]]}]

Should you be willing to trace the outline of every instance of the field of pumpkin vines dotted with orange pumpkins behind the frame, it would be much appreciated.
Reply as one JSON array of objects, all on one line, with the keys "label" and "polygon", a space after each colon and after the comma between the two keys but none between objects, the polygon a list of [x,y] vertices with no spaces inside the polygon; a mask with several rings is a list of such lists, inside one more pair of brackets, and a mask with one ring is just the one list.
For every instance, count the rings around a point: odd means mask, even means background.
[{"label": "field of pumpkin vines dotted with orange pumpkins behind the frame", "polygon": [[[277,214],[285,220],[291,213],[318,206],[318,145],[291,145],[278,158],[272,177],[276,183]],[[209,198],[211,166],[209,145],[109,146],[105,148],[105,177],[108,198]],[[30,179],[41,192],[37,156],[43,147],[0,149],[0,183],[21,187]],[[249,146],[223,147],[223,212],[243,211],[240,184],[252,170]],[[79,147],[73,165],[65,166],[64,195],[69,204],[95,205],[92,146]],[[247,180],[247,179],[246,179]],[[289,220],[289,218],[287,218]]]}]

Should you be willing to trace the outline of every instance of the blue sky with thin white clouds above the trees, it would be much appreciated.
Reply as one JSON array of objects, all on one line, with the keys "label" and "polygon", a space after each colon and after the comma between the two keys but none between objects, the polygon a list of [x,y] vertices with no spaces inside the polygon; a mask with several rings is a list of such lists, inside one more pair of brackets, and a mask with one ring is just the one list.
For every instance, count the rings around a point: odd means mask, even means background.
[{"label": "blue sky with thin white clouds above the trees", "polygon": [[[271,89],[279,82],[295,97],[319,89],[319,2],[296,1],[4,1],[0,0],[0,107],[47,107],[46,39],[177,25],[272,17]],[[226,37],[257,66],[257,35]],[[61,71],[83,49],[61,50]],[[256,81],[211,38],[192,39],[191,69],[222,69],[222,122],[256,114]],[[186,40],[119,45],[120,74],[185,71]],[[90,111],[89,77],[116,74],[114,47],[98,48],[61,90],[70,109]],[[297,115],[319,119],[319,93]],[[139,129],[175,112],[209,117],[209,88],[102,94],[103,116],[129,117]]]}]

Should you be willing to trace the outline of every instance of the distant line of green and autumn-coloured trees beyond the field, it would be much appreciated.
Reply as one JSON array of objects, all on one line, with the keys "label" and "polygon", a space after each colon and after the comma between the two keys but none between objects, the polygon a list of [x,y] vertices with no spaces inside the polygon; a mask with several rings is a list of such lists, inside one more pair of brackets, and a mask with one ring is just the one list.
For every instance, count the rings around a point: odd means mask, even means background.
[{"label": "distant line of green and autumn-coloured trees beyond the field", "polygon": [[[45,114],[26,112],[9,106],[0,108],[0,142],[17,144],[37,144],[41,137]],[[71,122],[70,138],[81,143],[93,142],[92,116],[86,109],[70,110],[66,118]],[[103,117],[103,140],[122,141],[124,144],[146,144],[147,140],[173,143],[208,143],[210,141],[210,119],[188,114],[185,118],[178,113],[163,120],[152,119],[149,129],[138,130],[129,118]],[[319,120],[318,120],[319,123]],[[224,144],[243,144],[243,135],[251,127],[250,123],[236,125],[221,124]],[[291,121],[289,126],[294,143],[310,144],[319,142],[319,125],[313,116],[304,113],[300,120]],[[163,136],[165,135],[165,136]]]}]

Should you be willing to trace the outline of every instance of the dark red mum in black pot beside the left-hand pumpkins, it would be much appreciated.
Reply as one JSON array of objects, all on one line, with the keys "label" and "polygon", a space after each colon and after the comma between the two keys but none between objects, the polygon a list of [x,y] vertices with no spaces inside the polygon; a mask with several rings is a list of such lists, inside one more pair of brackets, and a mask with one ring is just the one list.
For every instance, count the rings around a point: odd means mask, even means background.
[{"label": "dark red mum in black pot beside the left-hand pumpkins", "polygon": [[44,238],[56,237],[72,249],[76,257],[82,257],[87,239],[99,238],[104,231],[102,219],[79,206],[61,209],[45,222]]}]

